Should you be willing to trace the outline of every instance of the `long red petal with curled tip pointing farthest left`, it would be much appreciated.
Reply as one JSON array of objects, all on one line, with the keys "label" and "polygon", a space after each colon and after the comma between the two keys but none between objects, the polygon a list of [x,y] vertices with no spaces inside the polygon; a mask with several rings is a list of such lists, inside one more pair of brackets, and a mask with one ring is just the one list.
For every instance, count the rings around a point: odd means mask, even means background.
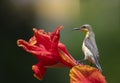
[{"label": "long red petal with curled tip pointing farthest left", "polygon": [[39,60],[53,59],[53,57],[51,56],[51,53],[48,52],[43,45],[40,45],[39,47],[37,45],[31,45],[22,39],[19,39],[17,41],[17,44],[27,52],[34,54]]}]

